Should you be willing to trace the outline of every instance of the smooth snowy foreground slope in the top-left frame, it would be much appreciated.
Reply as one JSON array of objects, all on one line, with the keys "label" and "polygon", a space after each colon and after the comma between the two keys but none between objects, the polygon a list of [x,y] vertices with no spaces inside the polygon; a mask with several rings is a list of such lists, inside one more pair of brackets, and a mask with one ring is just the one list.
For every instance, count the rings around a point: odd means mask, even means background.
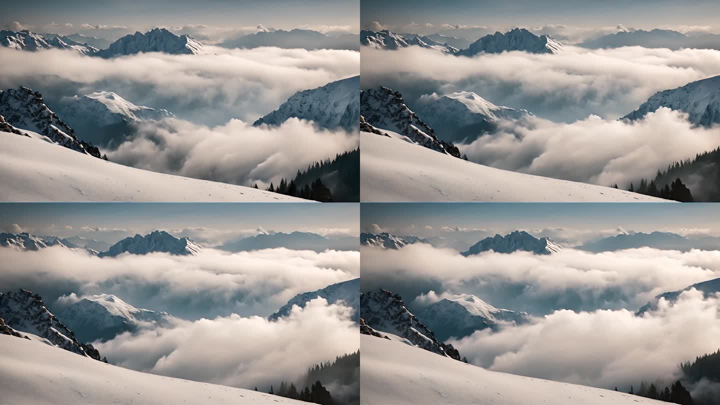
[{"label": "smooth snowy foreground slope in the top-left frame", "polygon": [[122,166],[31,135],[0,132],[0,201],[307,201]]}]

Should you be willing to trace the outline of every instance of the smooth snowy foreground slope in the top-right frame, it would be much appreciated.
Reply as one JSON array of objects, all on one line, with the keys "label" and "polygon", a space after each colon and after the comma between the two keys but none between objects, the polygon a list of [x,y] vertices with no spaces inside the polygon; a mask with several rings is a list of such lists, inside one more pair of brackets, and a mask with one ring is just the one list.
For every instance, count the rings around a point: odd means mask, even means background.
[{"label": "smooth snowy foreground slope in the top-right frame", "polygon": [[474,164],[410,143],[360,133],[361,201],[648,202],[647,195]]}]

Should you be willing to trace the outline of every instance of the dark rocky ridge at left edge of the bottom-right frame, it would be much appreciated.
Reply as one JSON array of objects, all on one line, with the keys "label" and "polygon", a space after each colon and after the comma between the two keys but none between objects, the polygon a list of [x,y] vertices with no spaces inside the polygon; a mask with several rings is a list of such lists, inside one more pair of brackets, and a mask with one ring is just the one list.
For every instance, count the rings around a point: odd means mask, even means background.
[{"label": "dark rocky ridge at left edge of the bottom-right frame", "polygon": [[388,290],[361,294],[360,317],[366,326],[381,334],[392,334],[421,349],[455,360],[461,359],[451,344],[438,342],[433,331],[408,311],[400,295],[394,295]]}]

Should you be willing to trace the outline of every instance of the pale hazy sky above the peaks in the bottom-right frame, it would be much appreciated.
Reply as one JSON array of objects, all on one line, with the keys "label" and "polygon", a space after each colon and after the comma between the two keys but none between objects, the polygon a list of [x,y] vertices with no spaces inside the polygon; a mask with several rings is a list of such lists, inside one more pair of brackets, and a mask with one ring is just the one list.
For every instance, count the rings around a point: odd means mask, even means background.
[{"label": "pale hazy sky above the peaks in the bottom-right frame", "polygon": [[618,227],[638,232],[683,232],[694,228],[720,233],[719,214],[720,206],[714,204],[374,203],[361,207],[361,230],[377,231],[374,225],[378,225],[420,236],[458,233],[449,229],[455,227],[489,233],[559,227],[598,233]]}]

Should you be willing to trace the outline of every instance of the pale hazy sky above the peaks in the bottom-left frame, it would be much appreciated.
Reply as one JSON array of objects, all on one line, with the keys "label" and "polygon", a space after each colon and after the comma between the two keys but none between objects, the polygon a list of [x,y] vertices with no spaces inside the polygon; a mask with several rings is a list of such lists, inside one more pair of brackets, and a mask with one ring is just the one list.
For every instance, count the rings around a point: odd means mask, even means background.
[{"label": "pale hazy sky above the peaks in the bottom-left frame", "polygon": [[258,227],[356,235],[359,221],[356,204],[6,203],[1,208],[0,231],[79,234],[111,243],[135,233],[185,228],[212,229],[228,237]]}]

